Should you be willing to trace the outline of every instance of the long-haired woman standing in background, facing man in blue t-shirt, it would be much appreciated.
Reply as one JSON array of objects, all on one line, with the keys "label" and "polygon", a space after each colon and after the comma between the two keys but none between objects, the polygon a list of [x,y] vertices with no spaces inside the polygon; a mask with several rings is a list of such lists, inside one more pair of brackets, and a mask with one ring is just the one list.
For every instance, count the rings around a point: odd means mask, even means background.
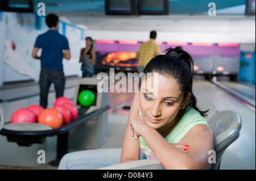
[{"label": "long-haired woman standing in background, facing man in blue t-shirt", "polygon": [[80,60],[82,62],[82,77],[92,77],[94,74],[93,66],[96,64],[96,52],[93,49],[93,40],[91,37],[85,38],[86,47],[81,48]]}]

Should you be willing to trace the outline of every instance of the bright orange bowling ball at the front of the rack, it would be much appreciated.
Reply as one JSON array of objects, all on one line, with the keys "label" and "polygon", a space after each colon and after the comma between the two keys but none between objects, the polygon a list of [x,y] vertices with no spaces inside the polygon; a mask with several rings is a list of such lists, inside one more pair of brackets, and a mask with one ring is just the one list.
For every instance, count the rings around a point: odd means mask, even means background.
[{"label": "bright orange bowling ball at the front of the rack", "polygon": [[55,108],[46,108],[38,116],[38,123],[57,129],[63,124],[63,116]]}]

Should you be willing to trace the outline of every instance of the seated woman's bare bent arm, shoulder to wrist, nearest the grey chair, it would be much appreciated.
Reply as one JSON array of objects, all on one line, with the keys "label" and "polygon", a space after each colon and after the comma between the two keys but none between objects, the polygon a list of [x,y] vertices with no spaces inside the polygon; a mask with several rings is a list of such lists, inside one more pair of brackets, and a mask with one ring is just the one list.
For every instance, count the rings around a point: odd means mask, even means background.
[{"label": "seated woman's bare bent arm, shoulder to wrist, nearest the grey chair", "polygon": [[196,125],[179,144],[189,145],[185,153],[170,144],[154,128],[142,127],[140,134],[166,169],[209,169],[208,151],[214,149],[213,135],[206,125]]}]

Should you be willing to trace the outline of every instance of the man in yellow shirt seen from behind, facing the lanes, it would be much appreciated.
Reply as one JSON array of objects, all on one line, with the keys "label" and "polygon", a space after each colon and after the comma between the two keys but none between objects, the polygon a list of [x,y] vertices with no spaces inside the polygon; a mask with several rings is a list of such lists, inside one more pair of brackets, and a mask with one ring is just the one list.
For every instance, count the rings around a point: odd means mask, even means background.
[{"label": "man in yellow shirt seen from behind, facing the lanes", "polygon": [[151,31],[150,40],[142,43],[141,47],[139,47],[136,57],[136,59],[139,60],[138,73],[142,73],[147,63],[160,53],[160,47],[155,43],[155,39],[156,31]]}]

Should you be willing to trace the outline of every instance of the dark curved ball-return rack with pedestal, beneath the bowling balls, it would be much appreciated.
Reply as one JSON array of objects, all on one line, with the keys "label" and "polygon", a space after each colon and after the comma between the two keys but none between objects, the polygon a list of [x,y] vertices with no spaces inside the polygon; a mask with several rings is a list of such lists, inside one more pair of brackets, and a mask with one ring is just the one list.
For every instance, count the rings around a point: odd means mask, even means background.
[{"label": "dark curved ball-return rack with pedestal, beneath the bowling balls", "polygon": [[[58,166],[60,159],[68,153],[68,132],[77,127],[78,125],[85,123],[92,119],[92,117],[100,115],[101,113],[109,110],[110,106],[98,108],[92,112],[86,112],[87,108],[80,108],[77,119],[67,125],[63,125],[57,129],[49,129],[44,131],[22,131],[22,130],[11,130],[3,127],[0,130],[0,134],[7,137],[7,141],[16,142],[19,146],[31,146],[32,144],[43,144],[46,141],[46,137],[57,136],[57,158],[49,162],[52,166]],[[5,125],[11,124],[10,122]]]}]

